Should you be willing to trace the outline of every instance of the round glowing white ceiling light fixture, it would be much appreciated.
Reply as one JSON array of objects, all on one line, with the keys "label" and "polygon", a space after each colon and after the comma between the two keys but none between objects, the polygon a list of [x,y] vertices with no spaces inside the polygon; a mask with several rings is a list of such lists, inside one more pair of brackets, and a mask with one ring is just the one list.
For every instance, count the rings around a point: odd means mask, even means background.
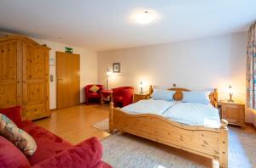
[{"label": "round glowing white ceiling light fixture", "polygon": [[153,10],[144,9],[134,14],[131,14],[131,20],[134,20],[138,24],[149,24],[157,19],[157,13]]}]

